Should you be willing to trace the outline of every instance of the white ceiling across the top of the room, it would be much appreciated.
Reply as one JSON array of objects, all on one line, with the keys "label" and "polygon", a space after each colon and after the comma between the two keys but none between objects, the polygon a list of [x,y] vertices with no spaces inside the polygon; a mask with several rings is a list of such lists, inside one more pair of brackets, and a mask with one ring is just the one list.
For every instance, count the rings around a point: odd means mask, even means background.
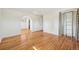
[{"label": "white ceiling across the top of the room", "polygon": [[52,14],[54,11],[67,10],[68,8],[10,8],[10,9],[24,12],[27,14],[44,15],[44,14]]}]

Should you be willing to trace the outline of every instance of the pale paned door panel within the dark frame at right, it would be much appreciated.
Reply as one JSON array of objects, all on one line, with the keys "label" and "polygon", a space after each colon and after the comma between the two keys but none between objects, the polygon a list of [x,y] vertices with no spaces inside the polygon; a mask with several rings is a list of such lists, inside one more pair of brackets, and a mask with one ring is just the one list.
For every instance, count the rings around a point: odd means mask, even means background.
[{"label": "pale paned door panel within the dark frame at right", "polygon": [[73,36],[73,21],[72,12],[67,12],[63,14],[63,24],[64,24],[64,35]]}]

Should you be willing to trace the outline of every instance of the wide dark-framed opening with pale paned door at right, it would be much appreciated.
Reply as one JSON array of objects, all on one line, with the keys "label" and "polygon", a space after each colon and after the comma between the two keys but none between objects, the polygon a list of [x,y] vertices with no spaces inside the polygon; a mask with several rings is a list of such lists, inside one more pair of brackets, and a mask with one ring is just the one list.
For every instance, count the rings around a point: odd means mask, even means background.
[{"label": "wide dark-framed opening with pale paned door at right", "polygon": [[76,39],[76,11],[59,13],[59,35]]}]

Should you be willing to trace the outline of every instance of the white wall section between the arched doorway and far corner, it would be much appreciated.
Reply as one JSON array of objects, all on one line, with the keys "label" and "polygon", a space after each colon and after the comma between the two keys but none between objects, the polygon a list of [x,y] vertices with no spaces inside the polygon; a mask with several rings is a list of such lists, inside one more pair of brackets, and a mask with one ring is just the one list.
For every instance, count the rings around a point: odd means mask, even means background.
[{"label": "white wall section between the arched doorway and far corner", "polygon": [[32,31],[40,31],[40,30],[43,30],[43,18],[42,16],[35,16],[34,19],[32,19]]}]

